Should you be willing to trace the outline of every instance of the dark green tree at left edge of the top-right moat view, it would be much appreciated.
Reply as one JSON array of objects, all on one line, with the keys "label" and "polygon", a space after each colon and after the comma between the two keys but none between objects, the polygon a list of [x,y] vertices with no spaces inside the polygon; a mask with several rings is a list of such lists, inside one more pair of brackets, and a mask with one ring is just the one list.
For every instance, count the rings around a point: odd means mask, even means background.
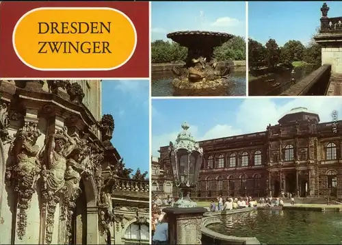
[{"label": "dark green tree at left edge of the top-right moat view", "polygon": [[248,38],[248,66],[259,67],[265,62],[266,49],[260,42]]}]

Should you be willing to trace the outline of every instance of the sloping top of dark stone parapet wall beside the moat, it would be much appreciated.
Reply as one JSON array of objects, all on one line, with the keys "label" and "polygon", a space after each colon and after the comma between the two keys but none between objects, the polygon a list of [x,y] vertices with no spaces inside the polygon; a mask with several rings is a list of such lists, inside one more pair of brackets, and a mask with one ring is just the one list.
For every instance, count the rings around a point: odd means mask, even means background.
[{"label": "sloping top of dark stone parapet wall beside the moat", "polygon": [[282,96],[326,95],[331,76],[331,64],[324,64],[317,70],[282,92]]}]

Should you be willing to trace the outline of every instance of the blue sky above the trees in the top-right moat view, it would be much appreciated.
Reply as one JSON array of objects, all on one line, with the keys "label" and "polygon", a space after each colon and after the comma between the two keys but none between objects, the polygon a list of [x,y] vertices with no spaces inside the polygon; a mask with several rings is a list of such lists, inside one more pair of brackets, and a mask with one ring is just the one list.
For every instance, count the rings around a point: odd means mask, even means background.
[{"label": "blue sky above the trees in the top-right moat view", "polygon": [[[321,25],[323,1],[250,1],[248,36],[262,44],[273,38],[282,46],[289,40],[310,42]],[[342,16],[342,1],[327,1],[328,17]]]}]

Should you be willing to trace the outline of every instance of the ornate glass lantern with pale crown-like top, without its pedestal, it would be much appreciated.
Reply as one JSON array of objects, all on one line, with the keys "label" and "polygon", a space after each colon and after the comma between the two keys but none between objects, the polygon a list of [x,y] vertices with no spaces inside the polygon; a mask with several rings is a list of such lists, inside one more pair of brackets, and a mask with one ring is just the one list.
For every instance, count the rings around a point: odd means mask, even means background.
[{"label": "ornate glass lantern with pale crown-like top, without its pedestal", "polygon": [[183,123],[183,131],[179,133],[176,142],[170,142],[169,157],[172,168],[172,178],[176,188],[181,190],[181,197],[176,201],[176,207],[196,207],[190,199],[190,192],[196,189],[203,149],[187,131],[189,125]]}]

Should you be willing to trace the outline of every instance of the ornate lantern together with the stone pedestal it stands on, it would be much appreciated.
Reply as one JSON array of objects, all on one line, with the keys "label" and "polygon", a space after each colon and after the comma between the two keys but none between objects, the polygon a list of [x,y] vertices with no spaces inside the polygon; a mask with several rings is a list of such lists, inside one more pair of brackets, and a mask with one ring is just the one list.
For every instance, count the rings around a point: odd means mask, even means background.
[{"label": "ornate lantern together with the stone pedestal it stands on", "polygon": [[181,196],[174,207],[163,209],[168,217],[168,244],[202,244],[200,224],[207,209],[196,207],[190,192],[197,186],[203,150],[188,131],[189,125],[181,127],[183,131],[169,147],[172,179]]}]

